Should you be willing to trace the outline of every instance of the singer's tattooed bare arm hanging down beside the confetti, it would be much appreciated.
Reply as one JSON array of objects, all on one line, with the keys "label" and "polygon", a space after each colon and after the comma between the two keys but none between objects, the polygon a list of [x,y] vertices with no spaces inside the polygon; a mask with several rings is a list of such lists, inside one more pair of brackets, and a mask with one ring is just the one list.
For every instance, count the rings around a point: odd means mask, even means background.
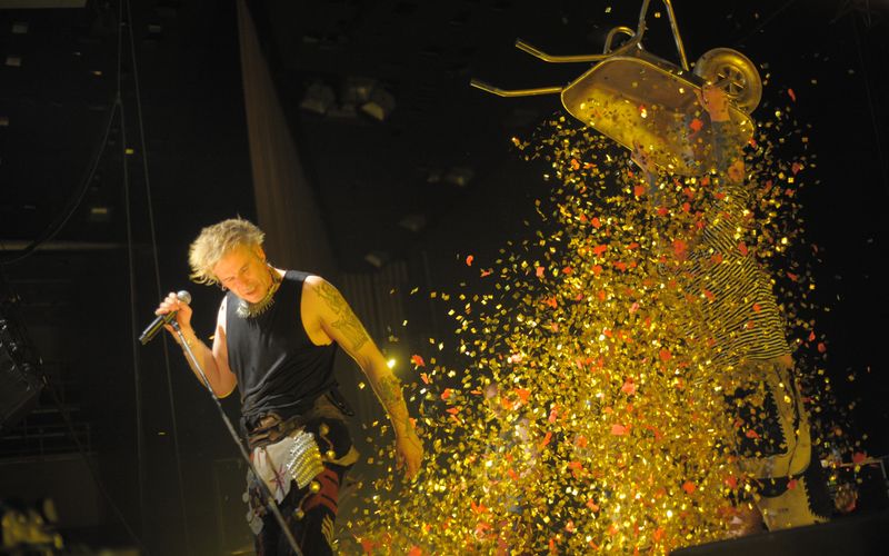
[{"label": "singer's tattooed bare arm hanging down beside the confetti", "polygon": [[329,338],[340,345],[367,375],[373,391],[386,408],[396,431],[396,451],[399,467],[407,467],[413,477],[420,468],[423,448],[410,421],[401,383],[386,365],[364,326],[342,295],[319,276],[306,279],[302,297],[303,320],[313,340]]}]

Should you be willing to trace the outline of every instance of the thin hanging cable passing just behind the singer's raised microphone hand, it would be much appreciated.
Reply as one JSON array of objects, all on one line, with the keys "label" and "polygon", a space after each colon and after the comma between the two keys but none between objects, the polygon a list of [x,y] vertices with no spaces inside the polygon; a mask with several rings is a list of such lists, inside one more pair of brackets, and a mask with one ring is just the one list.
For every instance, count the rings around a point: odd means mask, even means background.
[{"label": "thin hanging cable passing just behind the singer's raised microphone hand", "polygon": [[[153,210],[153,201],[151,198],[151,180],[149,178],[149,171],[148,171],[148,147],[146,145],[144,119],[142,117],[142,95],[139,85],[139,63],[137,62],[136,58],[136,41],[132,34],[132,9],[130,6],[130,0],[126,0],[126,6],[127,6],[127,21],[129,23],[129,38],[130,38],[130,63],[132,68],[133,91],[136,95],[136,115],[139,128],[138,129],[139,149],[142,155],[142,176],[144,179],[144,187],[146,187],[146,206],[148,210],[148,225],[151,235],[151,255],[153,258],[153,266],[154,266],[154,289],[158,299],[161,299],[163,297],[163,294],[160,281],[160,261],[158,256],[157,228],[154,226],[154,210]],[[129,210],[129,202],[128,202],[128,210]],[[136,315],[134,307],[132,312],[134,318]],[[169,342],[167,341],[166,337],[163,339],[163,368],[166,370],[166,376],[167,376],[167,396],[169,398],[169,404],[170,404],[170,417],[172,423],[172,437],[173,437],[173,458],[176,459],[176,475],[177,475],[177,480],[179,483],[178,485],[179,506],[180,510],[182,512],[182,528],[183,528],[183,538],[186,544],[186,554],[191,554],[191,537],[189,534],[191,527],[189,527],[188,512],[186,510],[184,481],[182,479],[182,456],[179,446],[179,426],[176,416],[176,397],[173,396],[173,387],[172,387],[172,370],[171,370],[172,366],[170,365]]]}]

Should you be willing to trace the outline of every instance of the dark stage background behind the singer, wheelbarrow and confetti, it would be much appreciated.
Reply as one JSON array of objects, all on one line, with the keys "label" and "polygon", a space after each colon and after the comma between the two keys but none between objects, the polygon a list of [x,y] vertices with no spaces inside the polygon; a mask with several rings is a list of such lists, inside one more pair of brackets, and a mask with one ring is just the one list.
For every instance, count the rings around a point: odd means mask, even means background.
[{"label": "dark stage background behind the singer, wheelbarrow and confetti", "polygon": [[[426,294],[456,289],[467,255],[492,259],[527,234],[522,220],[547,195],[510,138],[559,112],[558,98],[500,99],[470,78],[566,83],[585,66],[545,64],[515,39],[599,52],[638,9],[263,0],[241,4],[239,21],[229,0],[0,0],[2,317],[18,315],[64,408],[43,391],[3,426],[0,499],[53,498],[60,528],[90,546],[138,546],[133,536],[151,554],[248,546],[243,464],[216,407],[178,348],[136,342],[162,292],[181,288],[210,334],[219,291],[189,286],[190,240],[234,215],[268,222],[272,259],[330,277],[407,369],[448,327]],[[675,9],[690,61],[741,50],[768,77],[763,101],[786,103],[792,88],[811,126],[818,183],[802,205],[805,237],[820,248],[826,370],[855,406],[861,451],[885,456],[889,2]],[[676,60],[662,4],[649,27],[647,50]],[[408,295],[414,287],[421,295]],[[359,415],[380,418],[340,359]],[[236,417],[237,399],[223,408]],[[881,507],[879,481],[859,512]]]}]

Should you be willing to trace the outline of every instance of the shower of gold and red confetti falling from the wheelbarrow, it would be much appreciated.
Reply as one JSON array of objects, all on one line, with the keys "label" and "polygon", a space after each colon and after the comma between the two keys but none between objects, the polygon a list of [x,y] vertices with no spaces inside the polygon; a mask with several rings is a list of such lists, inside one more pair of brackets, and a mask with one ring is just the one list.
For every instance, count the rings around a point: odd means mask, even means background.
[{"label": "shower of gold and red confetti falling from the wheelbarrow", "polygon": [[[738,249],[773,277],[819,450],[847,456],[810,300],[818,250],[800,219],[817,160],[792,105],[771,110],[747,149],[753,202]],[[737,384],[707,340],[719,324],[701,318],[709,292],[683,279],[713,178],[648,190],[626,152],[566,117],[513,142],[548,166],[539,221],[496,260],[465,255],[478,279],[437,295],[456,342],[418,349],[406,385],[423,471],[378,480],[342,534],[369,554],[414,555],[663,554],[725,538],[729,500],[752,479],[726,406]]]}]

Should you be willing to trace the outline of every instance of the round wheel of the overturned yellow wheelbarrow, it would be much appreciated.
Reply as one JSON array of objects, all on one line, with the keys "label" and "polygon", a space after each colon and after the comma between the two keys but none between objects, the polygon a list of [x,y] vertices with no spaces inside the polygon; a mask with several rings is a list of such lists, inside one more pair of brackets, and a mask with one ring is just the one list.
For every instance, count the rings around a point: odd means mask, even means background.
[{"label": "round wheel of the overturned yellow wheelbarrow", "polygon": [[762,80],[749,58],[730,48],[715,48],[695,63],[695,75],[725,90],[735,105],[747,113],[756,110],[762,98]]}]

